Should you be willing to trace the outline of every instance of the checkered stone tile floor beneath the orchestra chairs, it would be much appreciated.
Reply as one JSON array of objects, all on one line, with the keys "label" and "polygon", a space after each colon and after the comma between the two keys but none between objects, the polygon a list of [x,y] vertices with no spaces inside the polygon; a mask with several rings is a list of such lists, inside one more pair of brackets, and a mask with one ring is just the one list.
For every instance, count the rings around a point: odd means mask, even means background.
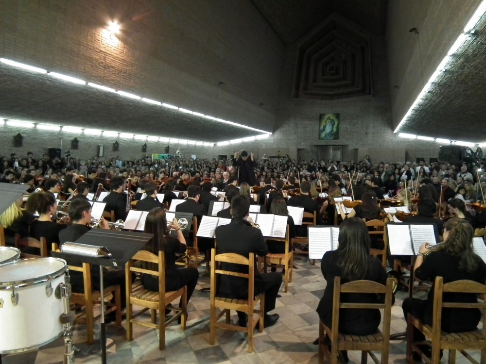
[{"label": "checkered stone tile floor beneath the orchestra chairs", "polygon": [[[199,363],[199,364],[313,364],[317,363],[317,346],[312,341],[318,336],[319,318],[315,309],[322,297],[326,282],[322,277],[319,263],[311,265],[302,258],[295,259],[298,269],[294,270],[294,280],[289,285],[289,292],[283,292],[277,300],[275,313],[280,319],[275,326],[255,334],[255,351],[248,353],[246,334],[237,331],[217,331],[217,343],[209,345],[209,292],[199,292],[208,287],[209,277],[200,268],[201,276],[196,292],[188,306],[188,328],[182,331],[173,324],[166,333],[167,348],[158,349],[158,332],[139,325],[134,325],[134,340],[125,340],[125,329],[114,324],[107,326],[108,363]],[[398,292],[392,309],[391,333],[405,331],[405,321],[401,302],[406,293]],[[233,320],[237,319],[232,312]],[[147,314],[147,320],[150,319]],[[1,327],[0,327],[1,330]],[[99,337],[97,326],[96,337]],[[77,347],[76,363],[101,363],[100,345],[95,342],[88,346],[84,326],[76,325],[74,343]],[[19,355],[6,355],[3,364],[51,364],[63,363],[63,340],[59,339],[40,350]],[[377,353],[379,356],[379,353]],[[447,355],[442,360],[446,362]],[[474,358],[479,361],[478,353]],[[350,363],[360,363],[361,353],[349,352]],[[368,358],[368,363],[372,362]],[[403,340],[392,341],[390,363],[405,363],[405,344]],[[458,354],[458,364],[467,363],[466,358]]]}]

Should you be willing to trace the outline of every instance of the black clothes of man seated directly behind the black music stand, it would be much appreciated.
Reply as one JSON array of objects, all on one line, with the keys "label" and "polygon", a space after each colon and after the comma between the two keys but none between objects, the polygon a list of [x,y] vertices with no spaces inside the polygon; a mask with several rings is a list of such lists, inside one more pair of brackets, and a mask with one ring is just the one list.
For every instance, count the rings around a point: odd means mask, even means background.
[{"label": "black clothes of man seated directly behind the black music stand", "polygon": [[[81,236],[90,231],[91,228],[82,224],[71,224],[66,229],[59,232],[59,242],[64,244],[65,242],[75,242]],[[69,264],[69,261],[68,261]],[[91,286],[94,290],[99,291],[100,288],[100,267],[98,265],[91,265]],[[84,293],[84,279],[82,272],[70,271],[70,283],[72,292]],[[135,274],[132,276],[135,279]],[[121,292],[126,291],[125,284],[125,269],[106,269],[103,272],[103,285],[109,287],[114,284],[120,284]],[[126,295],[121,295],[121,308],[125,307]],[[112,302],[115,302],[115,297],[112,298]]]}]

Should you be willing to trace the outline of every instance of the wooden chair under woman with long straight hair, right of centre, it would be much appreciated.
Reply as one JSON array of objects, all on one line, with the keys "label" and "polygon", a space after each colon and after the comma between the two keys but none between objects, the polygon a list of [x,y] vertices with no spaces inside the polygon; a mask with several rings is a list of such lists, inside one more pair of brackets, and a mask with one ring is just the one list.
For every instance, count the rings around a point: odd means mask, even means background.
[{"label": "wooden chair under woman with long straight hair, right of centre", "polygon": [[[384,303],[342,303],[341,293],[375,293],[384,294]],[[324,353],[329,355],[327,345],[324,344],[327,335],[331,343],[330,363],[336,364],[339,350],[361,350],[361,363],[365,364],[367,355],[378,364],[374,351],[382,352],[382,364],[388,363],[390,349],[390,317],[393,298],[393,279],[386,280],[386,286],[373,281],[352,281],[341,285],[341,278],[334,279],[334,297],[332,306],[332,328],[328,328],[319,321],[319,364],[324,363]],[[378,330],[373,335],[347,335],[339,333],[339,310],[346,309],[384,309],[383,332]]]}]

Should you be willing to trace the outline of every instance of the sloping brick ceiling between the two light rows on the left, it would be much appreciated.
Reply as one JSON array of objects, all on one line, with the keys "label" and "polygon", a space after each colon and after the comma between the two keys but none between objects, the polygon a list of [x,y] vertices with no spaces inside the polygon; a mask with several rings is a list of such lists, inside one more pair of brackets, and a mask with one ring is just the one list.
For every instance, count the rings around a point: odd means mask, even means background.
[{"label": "sloping brick ceiling between the two light rows on the left", "polygon": [[1,63],[0,116],[205,142],[261,134]]}]

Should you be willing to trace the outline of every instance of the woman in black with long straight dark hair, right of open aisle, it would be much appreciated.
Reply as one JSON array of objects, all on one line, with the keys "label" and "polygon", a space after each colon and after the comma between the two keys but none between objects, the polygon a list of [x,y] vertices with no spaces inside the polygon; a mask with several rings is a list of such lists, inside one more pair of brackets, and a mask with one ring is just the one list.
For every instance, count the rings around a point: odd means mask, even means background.
[{"label": "woman in black with long straight dark hair, right of open aisle", "polygon": [[[388,275],[378,259],[369,255],[370,238],[368,229],[359,217],[343,220],[339,226],[339,246],[324,253],[321,271],[327,281],[324,295],[317,306],[320,320],[327,327],[332,326],[334,278],[341,277],[341,284],[367,280],[386,285]],[[375,294],[341,295],[341,302],[379,303],[384,297]],[[372,335],[380,325],[380,310],[341,309],[339,332],[349,335]],[[343,352],[345,360],[347,353]]]}]

